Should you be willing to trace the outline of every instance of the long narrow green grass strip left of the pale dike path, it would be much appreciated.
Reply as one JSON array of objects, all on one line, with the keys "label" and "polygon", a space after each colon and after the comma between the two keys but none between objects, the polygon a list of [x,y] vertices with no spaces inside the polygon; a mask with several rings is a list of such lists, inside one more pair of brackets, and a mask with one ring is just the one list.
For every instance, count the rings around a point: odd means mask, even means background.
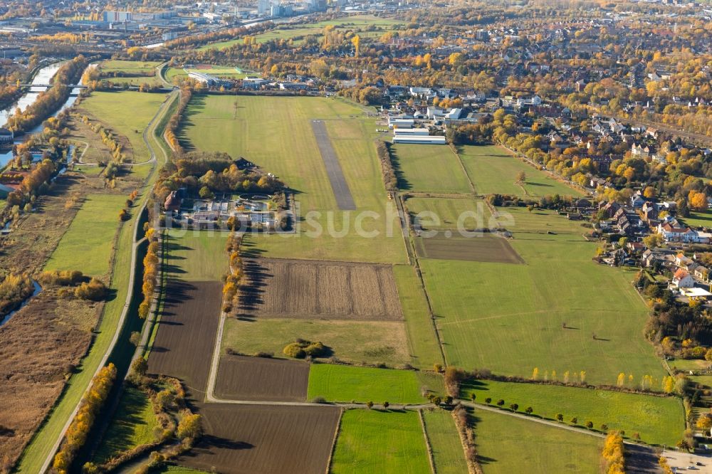
[{"label": "long narrow green grass strip left of the pale dike path", "polygon": [[[119,93],[117,93],[117,95],[118,94]],[[108,117],[111,117],[111,115],[108,115]],[[159,162],[162,162],[162,158],[159,159]],[[141,197],[135,204],[135,209],[140,209],[140,206],[148,199],[148,191],[151,189],[154,176],[155,169],[146,180],[146,184],[142,188]],[[115,295],[113,299],[108,301],[104,306],[100,327],[95,335],[93,344],[86,357],[82,359],[77,373],[68,380],[55,406],[53,406],[53,409],[48,413],[47,418],[23,451],[22,458],[16,468],[20,473],[34,474],[41,470],[54,443],[56,443],[57,439],[61,436],[66,421],[80,402],[80,399],[98,369],[104,354],[111,344],[115,331],[118,330],[117,325],[125,305],[129,286],[134,226],[137,220],[138,216],[135,215],[121,227],[117,248],[115,250],[114,267],[110,283],[110,288],[115,290]]]}]

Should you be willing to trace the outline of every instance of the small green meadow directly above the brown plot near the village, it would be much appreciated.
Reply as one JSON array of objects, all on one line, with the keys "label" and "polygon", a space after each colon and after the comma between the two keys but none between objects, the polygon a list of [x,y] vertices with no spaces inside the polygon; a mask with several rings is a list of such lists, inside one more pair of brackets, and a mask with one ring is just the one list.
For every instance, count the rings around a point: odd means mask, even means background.
[{"label": "small green meadow directly above the brown plot near the village", "polygon": [[466,231],[493,228],[496,221],[481,199],[443,199],[413,197],[406,201],[409,214],[423,229]]}]

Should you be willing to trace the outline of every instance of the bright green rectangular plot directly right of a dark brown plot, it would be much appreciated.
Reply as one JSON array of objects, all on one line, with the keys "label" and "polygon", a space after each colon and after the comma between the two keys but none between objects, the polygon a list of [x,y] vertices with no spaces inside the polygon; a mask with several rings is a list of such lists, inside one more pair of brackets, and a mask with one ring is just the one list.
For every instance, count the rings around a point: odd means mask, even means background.
[{"label": "bright green rectangular plot directly right of a dark brown plot", "polygon": [[375,369],[349,365],[313,364],[309,371],[309,400],[372,401],[382,404],[419,404],[421,384],[412,370]]}]

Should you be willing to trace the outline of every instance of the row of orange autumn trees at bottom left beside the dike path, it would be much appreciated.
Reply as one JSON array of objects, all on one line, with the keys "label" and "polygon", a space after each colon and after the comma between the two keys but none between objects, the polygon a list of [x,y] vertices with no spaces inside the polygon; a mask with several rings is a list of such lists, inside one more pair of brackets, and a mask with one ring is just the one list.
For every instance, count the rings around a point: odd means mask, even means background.
[{"label": "row of orange autumn trees at bottom left beside the dike path", "polygon": [[72,461],[84,445],[94,420],[109,396],[111,386],[116,379],[116,367],[109,364],[94,376],[91,387],[79,407],[77,415],[67,429],[65,441],[54,456],[52,467],[58,474],[68,473]]}]

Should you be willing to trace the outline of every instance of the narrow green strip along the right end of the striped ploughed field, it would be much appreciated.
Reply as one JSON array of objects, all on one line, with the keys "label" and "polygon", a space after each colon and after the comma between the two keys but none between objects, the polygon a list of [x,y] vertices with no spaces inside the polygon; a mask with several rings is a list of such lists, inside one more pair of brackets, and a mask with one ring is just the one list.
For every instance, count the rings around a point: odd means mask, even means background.
[{"label": "narrow green strip along the right end of the striped ploughed field", "polygon": [[422,283],[415,269],[408,265],[394,265],[393,275],[405,317],[411,364],[419,369],[432,369],[434,364],[444,364]]}]

